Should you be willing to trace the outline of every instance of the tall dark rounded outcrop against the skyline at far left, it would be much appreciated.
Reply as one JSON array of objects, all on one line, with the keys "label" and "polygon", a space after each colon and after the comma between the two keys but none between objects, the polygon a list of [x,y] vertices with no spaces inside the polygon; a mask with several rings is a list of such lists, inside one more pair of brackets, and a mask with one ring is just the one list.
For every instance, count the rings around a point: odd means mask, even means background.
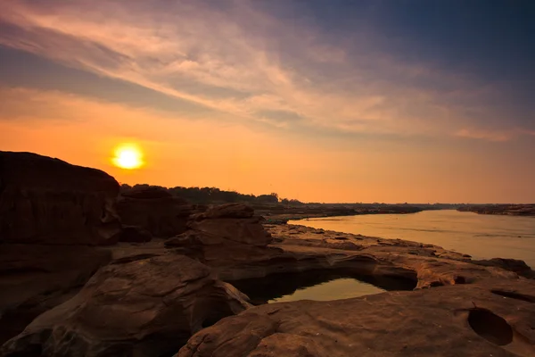
[{"label": "tall dark rounded outcrop against the skyline at far left", "polygon": [[101,170],[0,152],[0,243],[115,243],[118,193],[117,181]]}]

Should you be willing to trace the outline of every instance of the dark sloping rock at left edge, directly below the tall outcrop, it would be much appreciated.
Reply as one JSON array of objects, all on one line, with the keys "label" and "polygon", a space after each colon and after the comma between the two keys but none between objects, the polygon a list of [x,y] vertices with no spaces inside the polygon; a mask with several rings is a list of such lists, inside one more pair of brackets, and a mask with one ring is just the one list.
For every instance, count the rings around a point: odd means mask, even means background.
[{"label": "dark sloping rock at left edge, directly below the tall outcrop", "polygon": [[0,246],[0,345],[78,293],[111,252],[75,245]]}]

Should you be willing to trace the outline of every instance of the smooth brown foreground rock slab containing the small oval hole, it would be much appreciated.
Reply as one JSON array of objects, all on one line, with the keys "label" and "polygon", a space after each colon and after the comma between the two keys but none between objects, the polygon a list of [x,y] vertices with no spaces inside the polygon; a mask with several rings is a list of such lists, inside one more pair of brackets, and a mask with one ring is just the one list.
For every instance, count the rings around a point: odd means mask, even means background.
[{"label": "smooth brown foreground rock slab containing the small oval hole", "polygon": [[488,280],[261,305],[193,336],[176,357],[535,355],[535,282]]}]

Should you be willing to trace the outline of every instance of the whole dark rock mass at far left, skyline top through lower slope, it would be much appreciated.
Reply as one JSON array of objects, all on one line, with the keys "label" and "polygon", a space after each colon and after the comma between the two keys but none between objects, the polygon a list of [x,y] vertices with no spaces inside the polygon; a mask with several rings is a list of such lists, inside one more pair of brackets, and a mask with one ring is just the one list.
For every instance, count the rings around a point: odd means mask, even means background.
[{"label": "whole dark rock mass at far left, skyline top through lower slope", "polygon": [[0,152],[0,343],[111,260],[119,184],[101,170]]}]

